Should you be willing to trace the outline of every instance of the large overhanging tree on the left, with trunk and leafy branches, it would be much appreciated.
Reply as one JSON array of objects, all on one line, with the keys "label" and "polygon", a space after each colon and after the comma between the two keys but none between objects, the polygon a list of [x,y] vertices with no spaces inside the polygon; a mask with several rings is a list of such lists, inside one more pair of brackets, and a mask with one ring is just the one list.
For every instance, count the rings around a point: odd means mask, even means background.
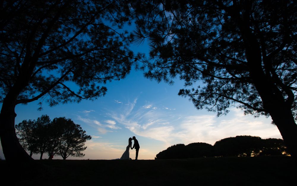
[{"label": "large overhanging tree on the left, with trunk and leafy branches", "polygon": [[[0,137],[7,161],[32,160],[15,134],[15,106],[94,100],[130,71],[125,1],[6,0],[0,4]],[[72,90],[69,82],[77,85]]]}]

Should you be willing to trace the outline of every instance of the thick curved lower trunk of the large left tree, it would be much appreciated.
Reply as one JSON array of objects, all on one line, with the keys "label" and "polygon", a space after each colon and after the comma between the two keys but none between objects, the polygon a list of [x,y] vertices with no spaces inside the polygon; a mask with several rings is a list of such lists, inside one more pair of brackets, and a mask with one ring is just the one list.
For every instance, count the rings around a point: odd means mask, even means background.
[{"label": "thick curved lower trunk of the large left tree", "polygon": [[20,145],[15,134],[15,100],[16,96],[7,94],[0,113],[0,138],[5,160],[10,162],[32,161],[33,159]]}]

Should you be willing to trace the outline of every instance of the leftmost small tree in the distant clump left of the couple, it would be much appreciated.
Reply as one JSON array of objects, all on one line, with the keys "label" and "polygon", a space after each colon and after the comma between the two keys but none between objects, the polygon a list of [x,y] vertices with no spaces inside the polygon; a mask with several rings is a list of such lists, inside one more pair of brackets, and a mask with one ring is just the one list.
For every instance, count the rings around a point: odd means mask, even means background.
[{"label": "leftmost small tree in the distant clump left of the couple", "polygon": [[36,144],[36,121],[35,120],[23,120],[19,124],[15,125],[16,134],[20,136],[19,141],[24,149],[30,152],[30,157],[34,153],[37,153]]}]

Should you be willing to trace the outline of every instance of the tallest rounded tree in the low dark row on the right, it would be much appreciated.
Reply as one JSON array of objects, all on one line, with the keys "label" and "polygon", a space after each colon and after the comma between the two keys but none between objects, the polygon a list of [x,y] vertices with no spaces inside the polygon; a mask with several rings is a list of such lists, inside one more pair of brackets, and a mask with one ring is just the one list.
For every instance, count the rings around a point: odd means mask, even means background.
[{"label": "tallest rounded tree in the low dark row on the right", "polygon": [[252,156],[262,147],[262,139],[257,136],[227,137],[214,143],[216,156]]}]

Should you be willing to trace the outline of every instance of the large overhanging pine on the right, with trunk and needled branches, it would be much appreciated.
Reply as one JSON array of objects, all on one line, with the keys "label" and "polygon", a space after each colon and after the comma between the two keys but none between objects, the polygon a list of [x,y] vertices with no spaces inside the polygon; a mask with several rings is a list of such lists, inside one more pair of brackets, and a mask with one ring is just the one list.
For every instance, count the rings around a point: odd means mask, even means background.
[{"label": "large overhanging pine on the right, with trunk and needled branches", "polygon": [[132,7],[135,42],[148,38],[154,60],[144,60],[147,78],[196,82],[201,87],[178,94],[197,109],[222,115],[236,106],[270,115],[297,157],[295,1],[157,0],[133,1]]}]

